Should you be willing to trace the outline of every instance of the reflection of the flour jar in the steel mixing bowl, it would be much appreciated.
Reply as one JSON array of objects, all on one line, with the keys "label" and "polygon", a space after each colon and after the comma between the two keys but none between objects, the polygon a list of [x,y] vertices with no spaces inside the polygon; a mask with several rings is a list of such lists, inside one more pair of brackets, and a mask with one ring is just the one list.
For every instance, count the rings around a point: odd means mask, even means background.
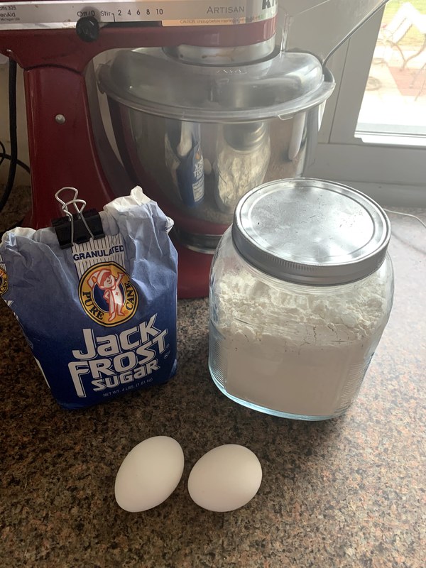
[{"label": "reflection of the flour jar in the steel mixing bowl", "polygon": [[260,185],[271,158],[266,122],[226,124],[218,139],[215,164],[217,206],[233,213],[239,199]]}]

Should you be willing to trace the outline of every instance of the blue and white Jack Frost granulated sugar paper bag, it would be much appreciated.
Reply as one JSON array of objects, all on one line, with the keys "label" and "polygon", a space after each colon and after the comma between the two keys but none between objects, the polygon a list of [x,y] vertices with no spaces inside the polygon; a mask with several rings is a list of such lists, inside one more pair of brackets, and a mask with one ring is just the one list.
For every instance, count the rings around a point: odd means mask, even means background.
[{"label": "blue and white Jack Frost granulated sugar paper bag", "polygon": [[0,295],[51,393],[84,408],[176,372],[178,255],[173,226],[135,187],[100,212],[105,236],[60,249],[52,228],[0,244]]}]

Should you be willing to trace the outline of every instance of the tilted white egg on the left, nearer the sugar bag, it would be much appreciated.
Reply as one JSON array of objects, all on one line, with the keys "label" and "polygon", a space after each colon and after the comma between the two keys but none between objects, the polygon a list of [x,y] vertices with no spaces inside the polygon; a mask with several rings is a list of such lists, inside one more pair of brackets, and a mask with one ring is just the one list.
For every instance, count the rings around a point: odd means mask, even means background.
[{"label": "tilted white egg on the left, nearer the sugar bag", "polygon": [[168,436],[143,440],[124,458],[115,481],[119,506],[131,513],[163,503],[178,486],[184,457],[180,444]]}]

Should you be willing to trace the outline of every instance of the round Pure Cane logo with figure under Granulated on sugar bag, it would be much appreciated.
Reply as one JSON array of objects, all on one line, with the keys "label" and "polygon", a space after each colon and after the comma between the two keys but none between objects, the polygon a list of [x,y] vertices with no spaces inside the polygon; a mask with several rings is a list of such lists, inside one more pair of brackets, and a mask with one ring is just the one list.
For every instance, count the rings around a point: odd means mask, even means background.
[{"label": "round Pure Cane logo with figure under Granulated on sugar bag", "polygon": [[114,262],[89,268],[82,275],[78,294],[84,311],[101,325],[126,322],[138,307],[138,294],[129,275]]}]

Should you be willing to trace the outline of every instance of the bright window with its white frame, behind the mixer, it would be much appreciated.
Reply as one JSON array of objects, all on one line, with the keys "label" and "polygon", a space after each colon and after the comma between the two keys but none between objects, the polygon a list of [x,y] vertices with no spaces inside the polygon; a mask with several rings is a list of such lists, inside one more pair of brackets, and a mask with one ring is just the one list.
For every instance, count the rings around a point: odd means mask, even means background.
[{"label": "bright window with its white frame, behind the mixer", "polygon": [[328,66],[337,86],[307,175],[426,206],[426,0],[388,2]]}]

